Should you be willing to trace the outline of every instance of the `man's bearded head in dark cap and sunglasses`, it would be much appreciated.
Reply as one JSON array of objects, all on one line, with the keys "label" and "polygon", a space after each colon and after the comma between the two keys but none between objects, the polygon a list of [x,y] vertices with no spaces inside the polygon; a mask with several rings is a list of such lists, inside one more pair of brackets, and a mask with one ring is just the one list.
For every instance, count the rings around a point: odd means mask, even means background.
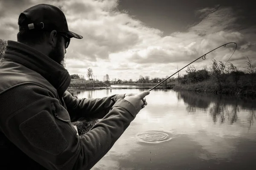
[{"label": "man's bearded head in dark cap and sunglasses", "polygon": [[30,45],[64,65],[70,38],[83,38],[69,31],[64,13],[56,6],[39,4],[23,11],[18,20],[17,41]]}]

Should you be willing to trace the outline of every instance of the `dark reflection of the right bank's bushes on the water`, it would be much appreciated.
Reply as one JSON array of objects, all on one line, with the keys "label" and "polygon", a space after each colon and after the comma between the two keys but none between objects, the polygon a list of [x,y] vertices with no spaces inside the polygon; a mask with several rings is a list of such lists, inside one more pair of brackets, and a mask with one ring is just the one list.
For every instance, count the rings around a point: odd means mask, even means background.
[{"label": "dark reflection of the right bank's bushes on the water", "polygon": [[[248,128],[253,125],[256,120],[255,99],[242,96],[227,96],[227,95],[213,95],[213,94],[196,94],[188,91],[178,91],[177,99],[183,100],[186,104],[186,111],[188,113],[195,113],[197,109],[201,109],[212,116],[214,123],[221,124],[227,122],[233,124],[238,120],[240,110],[249,110]],[[247,101],[247,102],[245,102]]]}]

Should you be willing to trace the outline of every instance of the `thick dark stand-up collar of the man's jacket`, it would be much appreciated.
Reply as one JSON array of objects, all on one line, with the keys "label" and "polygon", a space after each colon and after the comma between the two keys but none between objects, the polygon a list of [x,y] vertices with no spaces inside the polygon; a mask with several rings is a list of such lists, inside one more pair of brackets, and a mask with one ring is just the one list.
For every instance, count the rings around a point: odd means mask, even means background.
[{"label": "thick dark stand-up collar of the man's jacket", "polygon": [[41,74],[58,91],[60,97],[70,85],[71,77],[68,71],[35,48],[9,40],[5,53],[4,59],[18,62]]}]

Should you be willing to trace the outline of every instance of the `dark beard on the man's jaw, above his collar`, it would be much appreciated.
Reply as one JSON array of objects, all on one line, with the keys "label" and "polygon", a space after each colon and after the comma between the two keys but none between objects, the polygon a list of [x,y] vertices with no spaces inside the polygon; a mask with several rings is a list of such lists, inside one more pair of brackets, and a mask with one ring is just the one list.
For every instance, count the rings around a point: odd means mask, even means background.
[{"label": "dark beard on the man's jaw, above his collar", "polygon": [[65,67],[65,54],[61,45],[61,42],[57,43],[56,47],[49,53],[49,57],[62,67]]}]

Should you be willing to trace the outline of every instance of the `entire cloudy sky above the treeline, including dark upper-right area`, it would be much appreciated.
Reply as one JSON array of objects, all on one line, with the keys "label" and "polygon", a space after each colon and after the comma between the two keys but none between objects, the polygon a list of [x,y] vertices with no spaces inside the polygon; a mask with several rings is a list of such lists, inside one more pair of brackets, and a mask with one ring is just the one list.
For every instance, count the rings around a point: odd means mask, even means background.
[{"label": "entire cloudy sky above the treeline, including dark upper-right area", "polygon": [[[0,0],[0,39],[17,40],[19,14],[39,3],[61,8],[70,31],[84,37],[67,48],[70,74],[92,68],[99,80],[166,77],[228,42],[238,45],[230,62],[242,70],[248,56],[256,65],[256,11],[246,0]],[[225,63],[234,48],[194,65]]]}]

